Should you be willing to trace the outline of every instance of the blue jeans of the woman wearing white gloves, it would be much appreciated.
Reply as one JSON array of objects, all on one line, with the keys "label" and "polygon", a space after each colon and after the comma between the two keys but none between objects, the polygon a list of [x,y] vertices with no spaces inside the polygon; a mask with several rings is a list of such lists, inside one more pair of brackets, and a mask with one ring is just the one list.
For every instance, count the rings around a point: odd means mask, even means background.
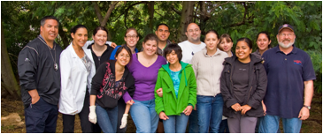
[{"label": "blue jeans of the woman wearing white gloves", "polygon": [[116,133],[118,127],[118,106],[109,109],[96,105],[96,120],[104,133]]}]

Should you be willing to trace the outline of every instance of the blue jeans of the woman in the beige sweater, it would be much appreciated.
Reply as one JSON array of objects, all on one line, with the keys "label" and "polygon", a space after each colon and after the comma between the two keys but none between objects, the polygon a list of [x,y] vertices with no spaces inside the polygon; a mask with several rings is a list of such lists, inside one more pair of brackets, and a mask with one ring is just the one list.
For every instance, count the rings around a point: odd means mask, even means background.
[{"label": "blue jeans of the woman in the beige sweater", "polygon": [[219,123],[222,121],[223,99],[219,93],[216,96],[197,95],[198,132],[219,132]]}]

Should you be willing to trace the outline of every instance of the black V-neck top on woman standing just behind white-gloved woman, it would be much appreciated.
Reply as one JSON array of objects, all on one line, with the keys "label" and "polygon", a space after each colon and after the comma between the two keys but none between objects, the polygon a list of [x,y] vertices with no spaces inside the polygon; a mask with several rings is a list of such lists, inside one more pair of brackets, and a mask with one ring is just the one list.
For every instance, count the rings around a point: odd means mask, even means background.
[{"label": "black V-neck top on woman standing just behind white-gloved woman", "polygon": [[97,68],[100,66],[101,63],[104,63],[110,59],[113,48],[110,47],[109,44],[105,44],[107,48],[105,49],[104,53],[101,56],[96,56],[96,53],[92,49],[93,45],[94,43],[92,43],[91,45],[88,45],[88,49],[91,49],[93,60],[94,60],[94,63],[96,64],[96,70],[97,70]]}]

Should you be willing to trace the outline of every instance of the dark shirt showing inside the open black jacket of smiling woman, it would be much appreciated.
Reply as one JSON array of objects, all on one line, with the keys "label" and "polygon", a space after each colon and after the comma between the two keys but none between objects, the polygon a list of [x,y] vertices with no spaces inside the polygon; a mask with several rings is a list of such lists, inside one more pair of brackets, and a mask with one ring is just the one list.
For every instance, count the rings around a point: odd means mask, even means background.
[{"label": "dark shirt showing inside the open black jacket of smiling woman", "polygon": [[240,105],[242,105],[248,90],[249,64],[235,60],[232,81],[234,83],[234,96]]}]

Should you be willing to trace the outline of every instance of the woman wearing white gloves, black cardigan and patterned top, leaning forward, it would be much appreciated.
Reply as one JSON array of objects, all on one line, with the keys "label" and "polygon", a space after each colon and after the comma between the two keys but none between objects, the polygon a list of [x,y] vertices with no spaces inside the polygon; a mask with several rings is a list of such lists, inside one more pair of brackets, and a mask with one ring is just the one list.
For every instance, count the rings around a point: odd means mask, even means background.
[{"label": "woman wearing white gloves, black cardigan and patterned top, leaning forward", "polygon": [[131,95],[135,93],[135,78],[127,69],[131,61],[131,50],[123,45],[116,52],[116,61],[102,63],[92,79],[90,93],[90,113],[88,120],[100,125],[104,133],[116,133],[118,123],[118,100],[127,102],[120,128],[127,124],[127,113],[134,103]]}]

